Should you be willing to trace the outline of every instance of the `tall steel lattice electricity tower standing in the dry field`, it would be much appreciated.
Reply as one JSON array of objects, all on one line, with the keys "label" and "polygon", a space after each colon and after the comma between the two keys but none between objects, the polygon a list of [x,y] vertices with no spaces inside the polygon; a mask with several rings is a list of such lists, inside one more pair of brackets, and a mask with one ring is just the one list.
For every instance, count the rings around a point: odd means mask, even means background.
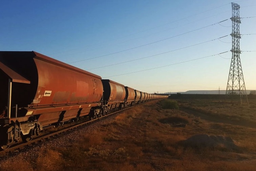
[{"label": "tall steel lattice electricity tower standing in the dry field", "polygon": [[[240,32],[239,32],[239,24],[241,23],[240,17],[239,17],[239,8],[240,6],[236,3],[232,4],[232,33],[230,34],[232,36],[232,59],[230,64],[230,71],[229,71],[229,79],[228,79],[228,85],[226,90],[226,95],[231,94],[240,94],[240,99],[242,103],[242,96],[243,94],[246,95],[246,87],[243,80],[243,72],[242,72],[242,66],[240,62],[240,45],[239,40],[241,38]],[[248,103],[248,99],[247,99]]]}]

